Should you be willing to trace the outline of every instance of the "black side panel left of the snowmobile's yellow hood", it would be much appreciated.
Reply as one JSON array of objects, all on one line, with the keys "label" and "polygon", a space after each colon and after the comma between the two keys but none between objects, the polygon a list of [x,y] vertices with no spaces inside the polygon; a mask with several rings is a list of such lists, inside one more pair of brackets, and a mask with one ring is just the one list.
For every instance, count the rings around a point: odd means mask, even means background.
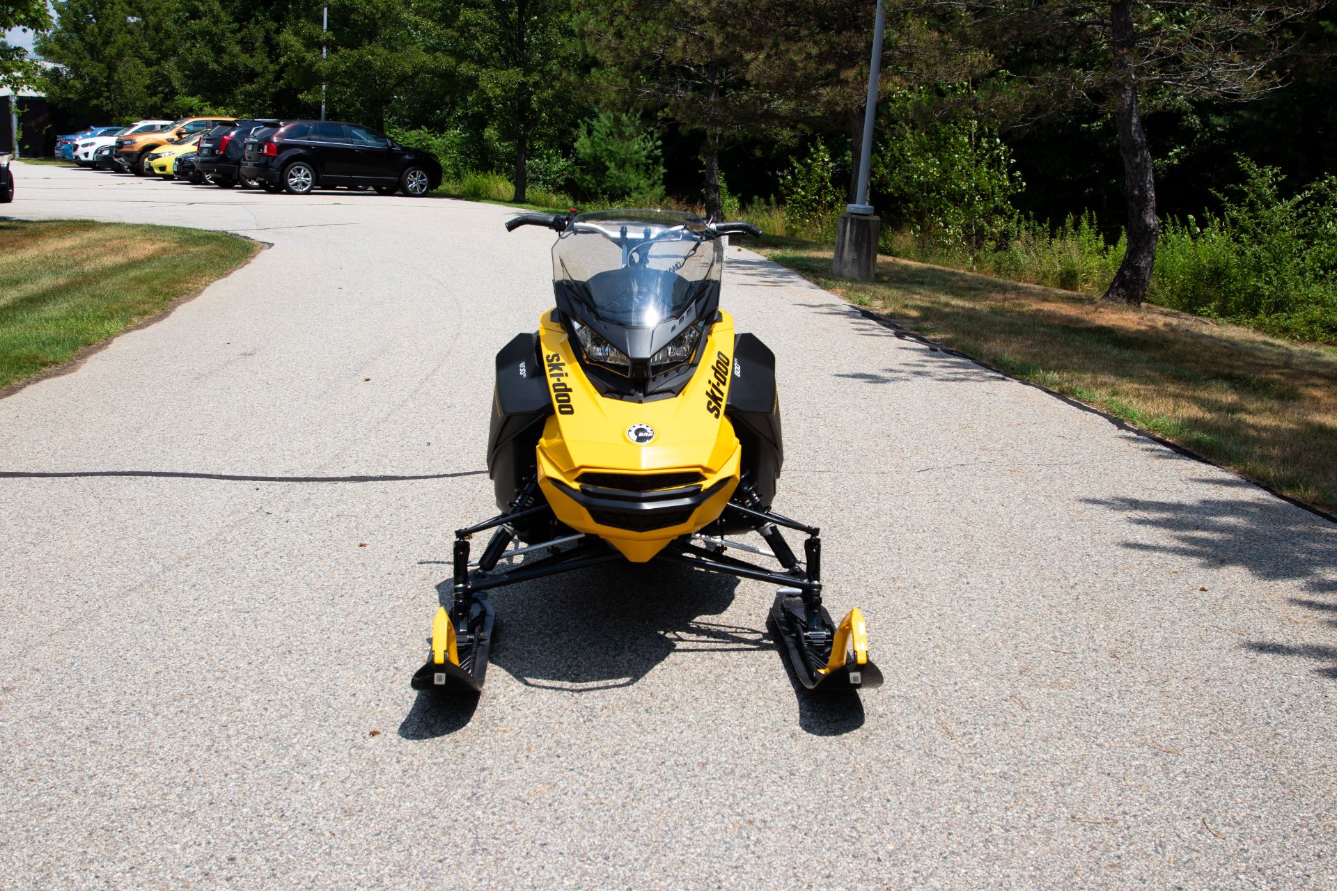
[{"label": "black side panel left of the snowmobile's yellow hood", "polygon": [[552,414],[548,382],[539,362],[539,335],[519,334],[497,353],[488,430],[488,476],[505,510],[521,482],[533,473],[535,446]]}]

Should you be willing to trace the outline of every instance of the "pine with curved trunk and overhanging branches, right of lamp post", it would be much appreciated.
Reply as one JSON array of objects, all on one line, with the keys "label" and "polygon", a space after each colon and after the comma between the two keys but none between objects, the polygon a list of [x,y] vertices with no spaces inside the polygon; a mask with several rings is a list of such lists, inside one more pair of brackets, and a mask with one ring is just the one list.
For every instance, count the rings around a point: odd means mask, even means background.
[{"label": "pine with curved trunk and overhanging branches, right of lamp post", "polygon": [[1278,63],[1321,0],[939,0],[975,13],[971,39],[1050,108],[1094,102],[1116,123],[1128,248],[1106,299],[1140,302],[1159,224],[1143,111],[1166,98],[1253,99],[1282,83]]}]

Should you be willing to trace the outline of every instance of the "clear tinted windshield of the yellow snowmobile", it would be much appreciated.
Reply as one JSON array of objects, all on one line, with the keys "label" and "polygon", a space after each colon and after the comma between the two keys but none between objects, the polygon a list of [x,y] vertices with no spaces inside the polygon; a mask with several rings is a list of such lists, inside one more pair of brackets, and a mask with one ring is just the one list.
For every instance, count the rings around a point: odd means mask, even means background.
[{"label": "clear tinted windshield of the yellow snowmobile", "polygon": [[718,244],[695,214],[580,214],[552,247],[552,278],[595,318],[655,327],[719,282]]}]

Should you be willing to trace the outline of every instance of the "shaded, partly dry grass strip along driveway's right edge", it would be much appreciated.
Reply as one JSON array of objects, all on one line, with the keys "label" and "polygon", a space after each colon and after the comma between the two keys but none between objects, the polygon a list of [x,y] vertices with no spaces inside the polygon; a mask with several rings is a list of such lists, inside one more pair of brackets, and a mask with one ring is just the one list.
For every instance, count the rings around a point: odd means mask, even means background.
[{"label": "shaded, partly dry grass strip along driveway's right edge", "polygon": [[1337,510],[1337,349],[886,256],[876,282],[841,279],[829,244],[759,250],[912,331]]}]

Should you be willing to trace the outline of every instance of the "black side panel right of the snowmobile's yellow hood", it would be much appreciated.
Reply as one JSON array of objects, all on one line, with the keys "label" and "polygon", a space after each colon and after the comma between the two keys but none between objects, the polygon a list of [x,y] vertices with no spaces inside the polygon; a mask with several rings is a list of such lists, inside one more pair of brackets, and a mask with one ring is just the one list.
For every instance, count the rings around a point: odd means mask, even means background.
[{"label": "black side panel right of the snowmobile's yellow hood", "polygon": [[769,508],[785,464],[775,354],[755,334],[739,334],[734,338],[733,375],[725,414],[743,448],[742,470],[757,488],[762,505]]}]

